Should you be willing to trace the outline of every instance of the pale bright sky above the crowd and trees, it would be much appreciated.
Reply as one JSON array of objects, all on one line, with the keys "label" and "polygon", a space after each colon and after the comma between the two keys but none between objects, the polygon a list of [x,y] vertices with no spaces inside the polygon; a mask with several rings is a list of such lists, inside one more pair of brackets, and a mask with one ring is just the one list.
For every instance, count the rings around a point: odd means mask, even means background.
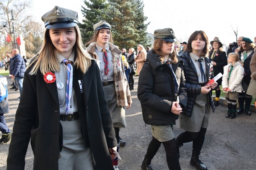
[{"label": "pale bright sky above the crowd and trees", "polygon": [[[41,16],[55,5],[77,11],[82,21],[83,0],[32,0],[30,12],[41,21]],[[255,0],[144,0],[144,5],[144,14],[150,22],[148,33],[170,27],[177,39],[187,41],[195,30],[203,30],[209,41],[217,36],[228,44],[236,40],[232,25],[234,29],[238,26],[238,36],[252,41],[256,36]]]}]

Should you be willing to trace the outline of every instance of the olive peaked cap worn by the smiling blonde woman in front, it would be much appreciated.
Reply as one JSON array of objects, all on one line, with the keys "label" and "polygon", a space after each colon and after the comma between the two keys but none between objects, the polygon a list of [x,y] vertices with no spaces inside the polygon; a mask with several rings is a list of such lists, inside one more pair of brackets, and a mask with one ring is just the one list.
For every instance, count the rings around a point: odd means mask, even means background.
[{"label": "olive peaked cap worn by the smiling blonde woman in front", "polygon": [[42,21],[48,29],[69,28],[78,24],[76,11],[55,6],[42,16]]}]

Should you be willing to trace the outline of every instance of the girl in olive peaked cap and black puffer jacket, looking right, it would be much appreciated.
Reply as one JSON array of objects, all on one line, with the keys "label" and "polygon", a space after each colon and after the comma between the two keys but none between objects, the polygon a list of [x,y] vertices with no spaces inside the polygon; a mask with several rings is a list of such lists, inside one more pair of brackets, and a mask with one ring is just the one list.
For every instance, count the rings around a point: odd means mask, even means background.
[{"label": "girl in olive peaked cap and black puffer jacket, looking right", "polygon": [[152,170],[151,160],[163,143],[169,169],[179,170],[173,125],[187,103],[182,61],[173,50],[176,39],[171,28],[155,30],[154,39],[138,82],[143,119],[151,125],[153,134],[141,168]]}]

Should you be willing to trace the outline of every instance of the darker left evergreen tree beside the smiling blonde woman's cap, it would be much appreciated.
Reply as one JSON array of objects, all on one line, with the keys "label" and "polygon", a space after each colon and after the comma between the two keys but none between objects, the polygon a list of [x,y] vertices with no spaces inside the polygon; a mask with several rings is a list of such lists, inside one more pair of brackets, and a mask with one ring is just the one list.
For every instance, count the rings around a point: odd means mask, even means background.
[{"label": "darker left evergreen tree beside the smiling blonde woman's cap", "polygon": [[93,36],[93,25],[101,20],[108,19],[108,3],[106,0],[84,0],[86,8],[82,6],[83,23],[79,23],[79,28],[83,34],[83,42],[86,44]]}]

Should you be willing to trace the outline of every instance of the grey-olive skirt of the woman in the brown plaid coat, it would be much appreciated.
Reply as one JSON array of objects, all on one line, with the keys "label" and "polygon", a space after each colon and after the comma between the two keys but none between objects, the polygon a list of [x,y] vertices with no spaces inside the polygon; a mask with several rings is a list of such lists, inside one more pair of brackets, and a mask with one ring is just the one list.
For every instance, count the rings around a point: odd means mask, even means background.
[{"label": "grey-olive skirt of the woman in the brown plaid coat", "polygon": [[125,109],[117,105],[115,83],[104,86],[105,96],[108,102],[108,110],[110,112],[113,126],[116,128],[125,128]]}]

